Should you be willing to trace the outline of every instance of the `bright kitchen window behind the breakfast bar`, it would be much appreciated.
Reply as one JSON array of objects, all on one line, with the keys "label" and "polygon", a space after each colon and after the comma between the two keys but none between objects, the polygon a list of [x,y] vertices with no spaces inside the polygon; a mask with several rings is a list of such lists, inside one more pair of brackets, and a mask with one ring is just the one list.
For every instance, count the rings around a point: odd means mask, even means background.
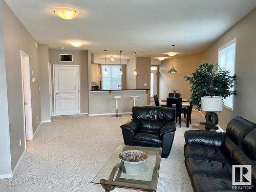
[{"label": "bright kitchen window behind the breakfast bar", "polygon": [[[106,68],[107,74],[104,74]],[[121,89],[121,76],[119,75],[120,66],[102,65],[102,89]],[[120,85],[120,86],[119,86]],[[118,87],[119,86],[119,87]]]}]

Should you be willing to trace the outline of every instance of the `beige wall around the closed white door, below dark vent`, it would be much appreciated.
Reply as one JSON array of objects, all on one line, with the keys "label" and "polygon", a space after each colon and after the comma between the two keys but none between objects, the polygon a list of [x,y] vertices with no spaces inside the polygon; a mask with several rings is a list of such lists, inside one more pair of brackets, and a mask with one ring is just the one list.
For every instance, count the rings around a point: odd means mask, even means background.
[{"label": "beige wall around the closed white door, below dark vent", "polygon": [[[59,54],[72,54],[73,62],[60,62]],[[80,66],[80,109],[81,113],[88,113],[88,51],[50,49],[50,63]]]}]

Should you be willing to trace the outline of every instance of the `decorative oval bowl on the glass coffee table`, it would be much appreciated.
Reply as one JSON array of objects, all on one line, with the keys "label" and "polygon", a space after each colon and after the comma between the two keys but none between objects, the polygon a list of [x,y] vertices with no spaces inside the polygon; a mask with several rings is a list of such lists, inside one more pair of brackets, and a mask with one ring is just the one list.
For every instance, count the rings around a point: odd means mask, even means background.
[{"label": "decorative oval bowl on the glass coffee table", "polygon": [[147,159],[147,154],[139,150],[127,150],[120,153],[119,158],[129,164],[138,164]]}]

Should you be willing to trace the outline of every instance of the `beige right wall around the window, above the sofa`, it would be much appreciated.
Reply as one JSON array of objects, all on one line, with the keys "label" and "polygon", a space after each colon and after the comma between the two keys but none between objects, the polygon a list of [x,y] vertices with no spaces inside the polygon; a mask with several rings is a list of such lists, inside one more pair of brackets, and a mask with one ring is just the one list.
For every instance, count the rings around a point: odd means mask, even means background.
[{"label": "beige right wall around the window, above the sofa", "polygon": [[218,48],[237,37],[235,89],[233,112],[224,109],[219,116],[220,125],[226,128],[227,123],[235,116],[241,116],[256,122],[256,9],[253,9],[238,24],[229,29],[214,44],[202,53],[202,62],[218,62]]}]

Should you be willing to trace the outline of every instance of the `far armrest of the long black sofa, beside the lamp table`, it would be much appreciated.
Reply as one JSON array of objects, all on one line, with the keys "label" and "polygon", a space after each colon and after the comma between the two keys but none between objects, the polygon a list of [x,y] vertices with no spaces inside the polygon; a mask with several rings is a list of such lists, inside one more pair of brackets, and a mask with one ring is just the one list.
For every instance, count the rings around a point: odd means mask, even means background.
[{"label": "far armrest of the long black sofa, beside the lamp table", "polygon": [[185,132],[185,142],[221,147],[225,135],[224,132],[189,130]]}]

